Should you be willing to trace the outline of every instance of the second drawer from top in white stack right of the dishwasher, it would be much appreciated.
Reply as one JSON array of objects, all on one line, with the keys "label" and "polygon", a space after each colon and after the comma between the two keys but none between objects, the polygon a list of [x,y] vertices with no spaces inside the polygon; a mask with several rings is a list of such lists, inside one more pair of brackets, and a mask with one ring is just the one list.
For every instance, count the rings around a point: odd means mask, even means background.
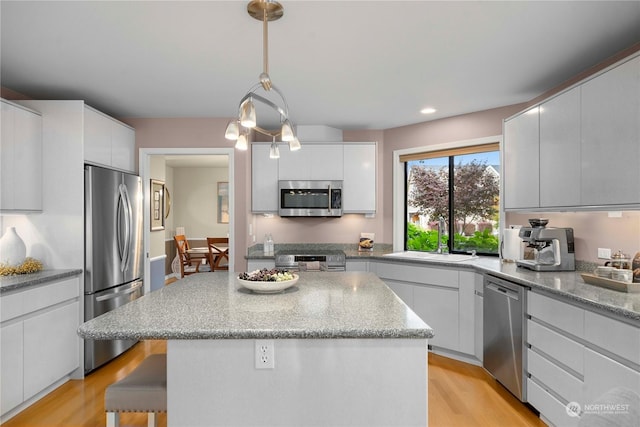
[{"label": "second drawer from top in white stack right of the dishwasher", "polygon": [[527,321],[527,341],[532,347],[584,374],[584,346],[532,320]]}]

